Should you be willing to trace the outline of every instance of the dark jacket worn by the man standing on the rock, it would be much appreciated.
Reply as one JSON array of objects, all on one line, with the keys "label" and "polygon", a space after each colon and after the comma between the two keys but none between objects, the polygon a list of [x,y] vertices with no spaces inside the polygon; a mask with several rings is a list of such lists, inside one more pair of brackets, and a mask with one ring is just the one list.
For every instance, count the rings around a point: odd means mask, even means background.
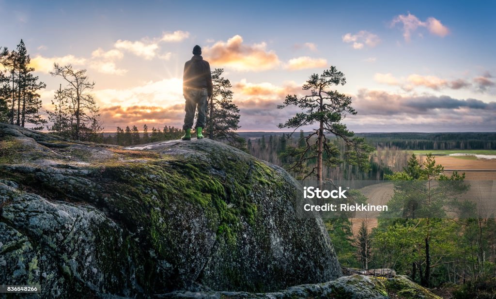
[{"label": "dark jacket worn by the man standing on the rock", "polygon": [[212,95],[212,73],[210,64],[201,55],[193,55],[186,61],[183,73],[183,93],[187,88],[206,88],[208,96]]}]

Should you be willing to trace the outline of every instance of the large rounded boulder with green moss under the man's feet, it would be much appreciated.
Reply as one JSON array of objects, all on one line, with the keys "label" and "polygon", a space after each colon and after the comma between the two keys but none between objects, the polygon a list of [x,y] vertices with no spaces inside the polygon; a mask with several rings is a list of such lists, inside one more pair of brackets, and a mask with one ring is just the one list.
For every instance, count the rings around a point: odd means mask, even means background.
[{"label": "large rounded boulder with green moss under the man's feet", "polygon": [[0,124],[0,281],[44,298],[272,292],[342,275],[284,170],[209,139],[118,147]]}]

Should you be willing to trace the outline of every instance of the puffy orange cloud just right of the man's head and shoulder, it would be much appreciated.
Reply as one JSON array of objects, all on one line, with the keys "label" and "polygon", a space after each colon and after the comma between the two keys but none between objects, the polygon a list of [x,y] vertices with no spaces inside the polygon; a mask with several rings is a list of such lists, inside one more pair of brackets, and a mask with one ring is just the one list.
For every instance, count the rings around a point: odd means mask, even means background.
[{"label": "puffy orange cloud just right of the man's head and shoulder", "polygon": [[218,41],[212,47],[205,47],[203,55],[213,65],[228,66],[242,71],[261,71],[279,66],[280,61],[274,51],[267,51],[267,44],[247,45],[240,35],[227,42]]}]

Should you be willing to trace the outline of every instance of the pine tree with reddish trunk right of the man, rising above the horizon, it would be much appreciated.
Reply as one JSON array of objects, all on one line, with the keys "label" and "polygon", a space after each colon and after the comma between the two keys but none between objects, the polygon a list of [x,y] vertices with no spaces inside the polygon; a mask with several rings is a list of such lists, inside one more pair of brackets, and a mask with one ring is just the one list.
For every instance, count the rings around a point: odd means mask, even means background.
[{"label": "pine tree with reddish trunk right of the man, rising above the horizon", "polygon": [[[346,127],[342,120],[347,114],[356,115],[357,112],[351,106],[351,97],[337,91],[330,90],[333,85],[346,84],[344,74],[331,66],[324,70],[321,75],[313,74],[303,85],[303,90],[309,90],[310,94],[303,97],[287,95],[283,105],[279,109],[288,106],[296,106],[304,112],[280,123],[279,128],[294,128],[309,126],[314,123],[318,128],[314,129],[305,137],[306,149],[298,153],[296,161],[288,167],[288,170],[306,169],[307,164],[316,159],[316,165],[310,168],[305,178],[315,175],[317,180],[322,180],[322,169],[336,167],[340,162],[339,149],[327,138],[330,133],[346,143],[345,157],[352,165],[358,165],[361,169],[369,167],[369,154],[373,148],[367,145],[364,138],[354,137],[354,133]],[[312,140],[312,137],[315,137]]]}]

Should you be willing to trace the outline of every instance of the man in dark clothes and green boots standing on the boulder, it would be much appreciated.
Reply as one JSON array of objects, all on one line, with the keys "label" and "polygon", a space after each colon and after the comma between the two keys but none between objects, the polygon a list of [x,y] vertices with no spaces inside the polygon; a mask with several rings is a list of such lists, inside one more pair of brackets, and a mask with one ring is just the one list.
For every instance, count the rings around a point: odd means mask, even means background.
[{"label": "man in dark clothes and green boots standing on the boulder", "polygon": [[193,57],[186,61],[183,73],[183,96],[186,100],[186,116],[183,130],[183,140],[191,140],[191,127],[193,126],[194,114],[198,108],[198,119],[196,120],[196,137],[203,138],[201,133],[207,120],[206,111],[208,100],[212,97],[212,74],[210,64],[201,57],[201,48],[196,45],[193,48]]}]

